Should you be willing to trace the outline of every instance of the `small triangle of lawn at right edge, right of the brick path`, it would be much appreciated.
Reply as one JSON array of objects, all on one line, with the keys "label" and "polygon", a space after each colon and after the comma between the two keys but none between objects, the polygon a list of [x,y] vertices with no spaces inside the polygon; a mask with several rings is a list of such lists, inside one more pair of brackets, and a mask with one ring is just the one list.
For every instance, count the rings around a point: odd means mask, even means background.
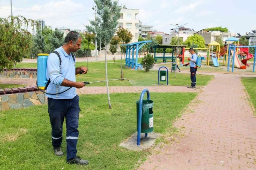
[{"label": "small triangle of lawn at right edge, right of the brick path", "polygon": [[252,105],[254,106],[254,108],[256,108],[256,77],[242,77],[242,82],[250,96],[250,101],[252,102]]}]

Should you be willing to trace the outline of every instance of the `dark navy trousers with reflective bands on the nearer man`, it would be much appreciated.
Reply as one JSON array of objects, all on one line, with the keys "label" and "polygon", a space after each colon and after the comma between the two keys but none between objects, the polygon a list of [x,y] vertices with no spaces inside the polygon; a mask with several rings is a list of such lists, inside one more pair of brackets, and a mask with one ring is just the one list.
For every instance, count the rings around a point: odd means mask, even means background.
[{"label": "dark navy trousers with reflective bands on the nearer man", "polygon": [[48,113],[51,122],[51,138],[53,147],[60,147],[62,142],[62,125],[66,118],[67,127],[67,160],[77,154],[79,96],[73,99],[52,99],[48,97]]}]

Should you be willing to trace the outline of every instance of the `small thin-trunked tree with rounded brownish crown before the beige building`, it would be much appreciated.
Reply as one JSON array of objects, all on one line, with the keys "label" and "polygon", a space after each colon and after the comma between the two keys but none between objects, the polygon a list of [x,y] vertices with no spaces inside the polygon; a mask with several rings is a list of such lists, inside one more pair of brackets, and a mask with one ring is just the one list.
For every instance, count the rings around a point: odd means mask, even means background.
[{"label": "small thin-trunked tree with rounded brownish crown before the beige building", "polygon": [[[124,29],[124,28],[119,28],[116,31],[117,36],[120,39],[120,42],[127,44],[129,42],[132,41],[133,39],[133,35],[132,32],[130,32],[128,29]],[[124,74],[123,74],[123,68],[122,68],[122,58],[123,58],[123,50],[121,51],[122,55],[121,55],[121,78],[123,78]]]}]

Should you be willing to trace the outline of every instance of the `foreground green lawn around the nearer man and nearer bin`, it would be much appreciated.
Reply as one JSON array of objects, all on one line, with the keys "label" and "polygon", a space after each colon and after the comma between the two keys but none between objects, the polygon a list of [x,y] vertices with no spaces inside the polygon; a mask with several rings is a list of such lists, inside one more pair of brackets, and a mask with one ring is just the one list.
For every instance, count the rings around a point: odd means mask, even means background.
[{"label": "foreground green lawn around the nearer man and nearer bin", "polygon": [[[154,132],[171,133],[173,120],[195,96],[196,93],[151,93]],[[0,112],[1,170],[136,168],[138,160],[145,160],[151,151],[130,151],[118,145],[136,132],[136,100],[140,94],[117,93],[110,97],[112,110],[108,109],[105,94],[80,96],[77,149],[81,158],[90,161],[88,166],[66,164],[65,122],[62,144],[65,156],[54,155],[47,105]]]}]

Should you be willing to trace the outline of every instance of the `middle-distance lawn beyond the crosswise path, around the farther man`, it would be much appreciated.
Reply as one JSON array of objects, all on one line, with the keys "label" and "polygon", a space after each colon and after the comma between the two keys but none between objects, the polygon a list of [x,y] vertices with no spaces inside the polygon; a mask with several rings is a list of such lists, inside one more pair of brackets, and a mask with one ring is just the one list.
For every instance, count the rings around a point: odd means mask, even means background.
[{"label": "middle-distance lawn beyond the crosswise path, around the farther man", "polygon": [[[29,68],[36,63],[19,63],[19,67]],[[18,65],[18,64],[17,64]],[[124,66],[125,64],[123,64]],[[87,62],[77,62],[77,67],[87,67]],[[109,81],[109,86],[152,86],[158,83],[158,70],[150,70],[148,73],[145,70],[132,70],[123,67],[124,77],[129,81]],[[108,79],[117,79],[121,75],[121,65],[116,63],[108,63]],[[205,86],[213,76],[211,75],[197,75],[197,85]],[[89,71],[86,75],[77,76],[77,81],[102,81],[106,80],[105,63],[89,62]],[[191,83],[190,74],[177,73],[176,78],[174,73],[169,73],[169,84],[171,86],[187,86]],[[163,82],[164,84],[164,82]],[[106,86],[105,82],[92,83],[86,86]]]}]

